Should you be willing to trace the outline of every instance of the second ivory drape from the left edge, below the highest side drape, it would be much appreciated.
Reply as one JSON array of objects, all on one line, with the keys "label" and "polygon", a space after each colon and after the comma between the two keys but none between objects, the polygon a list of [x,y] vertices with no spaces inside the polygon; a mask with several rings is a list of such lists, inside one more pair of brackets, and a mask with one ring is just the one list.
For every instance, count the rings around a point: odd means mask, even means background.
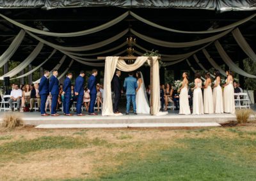
[{"label": "second ivory drape from the left edge, below the highest side drape", "polygon": [[31,52],[31,54],[29,54],[28,57],[19,64],[19,66],[15,67],[14,69],[4,74],[3,76],[0,76],[0,80],[3,80],[4,76],[12,77],[17,75],[17,73],[22,71],[22,69],[26,68],[26,66],[28,66],[36,58],[36,56],[40,53],[43,47],[44,47],[44,43],[39,42],[36,48],[33,50],[33,52]]}]

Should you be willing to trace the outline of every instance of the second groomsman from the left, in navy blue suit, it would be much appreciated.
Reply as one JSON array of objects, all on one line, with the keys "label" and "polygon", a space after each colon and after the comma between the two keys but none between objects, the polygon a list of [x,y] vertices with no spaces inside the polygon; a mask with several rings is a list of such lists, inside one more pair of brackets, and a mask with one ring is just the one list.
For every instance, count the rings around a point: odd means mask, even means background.
[{"label": "second groomsman from the left, in navy blue suit", "polygon": [[56,112],[58,96],[59,96],[59,80],[57,78],[58,70],[54,69],[52,71],[52,76],[50,78],[49,92],[52,95],[52,105],[51,105],[51,115],[58,116]]}]

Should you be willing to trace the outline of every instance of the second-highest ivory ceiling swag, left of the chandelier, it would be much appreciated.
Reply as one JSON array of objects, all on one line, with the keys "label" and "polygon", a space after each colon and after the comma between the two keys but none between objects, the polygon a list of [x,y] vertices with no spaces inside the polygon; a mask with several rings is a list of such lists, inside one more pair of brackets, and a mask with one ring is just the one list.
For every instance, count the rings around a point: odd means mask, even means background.
[{"label": "second-highest ivory ceiling swag, left of the chandelier", "polygon": [[100,41],[99,43],[94,43],[92,45],[85,45],[85,46],[82,46],[82,47],[63,47],[63,46],[51,43],[49,41],[46,41],[46,40],[36,36],[35,34],[30,33],[29,31],[26,31],[26,33],[28,33],[30,36],[32,36],[36,40],[45,43],[45,45],[48,45],[52,48],[56,48],[57,50],[81,52],[81,51],[93,50],[95,48],[104,47],[105,45],[108,45],[109,43],[112,43],[113,41],[116,41],[119,38],[122,38],[126,33],[128,33],[128,31],[129,31],[129,29],[125,29],[125,31],[122,31],[119,34],[116,34],[116,36],[113,36],[113,37],[109,38],[108,40],[103,40],[103,41]]}]

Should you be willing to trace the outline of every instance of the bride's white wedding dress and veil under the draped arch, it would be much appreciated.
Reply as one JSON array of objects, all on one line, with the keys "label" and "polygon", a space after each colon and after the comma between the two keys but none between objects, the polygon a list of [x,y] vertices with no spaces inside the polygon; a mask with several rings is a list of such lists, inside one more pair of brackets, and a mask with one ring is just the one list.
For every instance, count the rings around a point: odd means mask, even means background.
[{"label": "bride's white wedding dress and veil under the draped arch", "polygon": [[[145,84],[143,81],[143,76],[141,75],[141,86],[138,92],[136,93],[136,112],[137,113],[150,113],[150,107],[148,105],[148,100],[147,100],[147,92],[145,89]],[[137,82],[139,85],[139,81]]]}]

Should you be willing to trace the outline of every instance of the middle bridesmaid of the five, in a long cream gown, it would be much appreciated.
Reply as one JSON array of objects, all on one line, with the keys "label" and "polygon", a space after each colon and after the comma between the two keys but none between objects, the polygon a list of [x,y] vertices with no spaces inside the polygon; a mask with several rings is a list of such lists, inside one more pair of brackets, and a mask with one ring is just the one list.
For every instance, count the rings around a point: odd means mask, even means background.
[{"label": "middle bridesmaid of the five, in a long cream gown", "polygon": [[213,113],[213,96],[212,96],[212,81],[211,74],[207,72],[205,74],[204,83],[204,113]]}]

